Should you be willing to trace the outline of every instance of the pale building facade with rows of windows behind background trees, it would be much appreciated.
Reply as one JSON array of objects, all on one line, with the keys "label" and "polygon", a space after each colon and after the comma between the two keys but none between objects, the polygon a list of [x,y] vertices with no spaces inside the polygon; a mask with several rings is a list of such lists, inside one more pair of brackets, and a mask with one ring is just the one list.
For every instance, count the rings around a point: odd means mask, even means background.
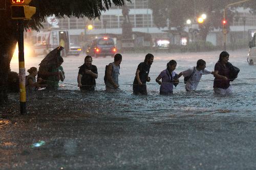
[{"label": "pale building facade with rows of windows behind background trees", "polygon": [[[127,3],[126,6],[130,9],[129,18],[133,31],[150,33],[153,38],[170,38],[170,33],[163,32],[166,28],[159,29],[154,25],[153,12],[148,9],[148,0],[132,0],[132,3]],[[237,14],[233,17],[233,23],[230,26],[230,32],[228,33],[228,42],[243,41],[248,42],[251,32],[256,30],[256,15],[250,13],[249,9],[238,8]],[[167,22],[167,21],[166,21]],[[71,42],[79,44],[82,35],[98,35],[98,34],[122,34],[122,9],[121,7],[115,7],[112,5],[111,9],[106,12],[102,12],[100,18],[95,20],[89,20],[87,18],[63,18],[59,19],[58,26],[60,29],[69,30]],[[51,27],[51,24],[43,23],[47,29]],[[87,26],[92,25],[93,29],[88,30]],[[184,29],[185,31],[188,28]],[[214,45],[221,45],[223,40],[221,38],[222,30],[211,31],[206,40],[210,41]],[[181,39],[182,37],[180,37]],[[171,38],[170,38],[171,39]],[[179,39],[179,38],[175,38]],[[179,44],[179,40],[173,43]]]}]

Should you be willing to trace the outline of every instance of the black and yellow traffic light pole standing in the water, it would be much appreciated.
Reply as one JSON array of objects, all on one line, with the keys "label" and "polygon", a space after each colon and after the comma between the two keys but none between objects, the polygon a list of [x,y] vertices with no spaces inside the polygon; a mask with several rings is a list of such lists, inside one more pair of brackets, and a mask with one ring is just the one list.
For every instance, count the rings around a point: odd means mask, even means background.
[{"label": "black and yellow traffic light pole standing in the water", "polygon": [[26,114],[26,69],[24,61],[24,26],[18,21],[18,66],[19,66],[19,102],[20,114]]}]

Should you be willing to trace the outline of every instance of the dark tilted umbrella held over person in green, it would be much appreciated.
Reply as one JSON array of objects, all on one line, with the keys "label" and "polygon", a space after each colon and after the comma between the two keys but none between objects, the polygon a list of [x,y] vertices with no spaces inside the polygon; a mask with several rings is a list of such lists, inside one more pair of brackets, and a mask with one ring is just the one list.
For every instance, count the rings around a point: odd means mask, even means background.
[{"label": "dark tilted umbrella held over person in green", "polygon": [[64,47],[58,46],[54,50],[52,50],[39,64],[40,66],[47,66],[57,64],[57,58],[60,56],[60,51],[63,50]]}]

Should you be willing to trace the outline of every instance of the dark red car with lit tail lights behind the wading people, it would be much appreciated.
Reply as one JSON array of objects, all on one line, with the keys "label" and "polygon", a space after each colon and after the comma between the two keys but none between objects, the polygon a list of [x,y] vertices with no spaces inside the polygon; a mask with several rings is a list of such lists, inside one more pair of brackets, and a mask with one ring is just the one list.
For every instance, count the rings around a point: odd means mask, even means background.
[{"label": "dark red car with lit tail lights behind the wading people", "polygon": [[117,53],[115,42],[112,38],[103,37],[94,39],[91,45],[88,46],[86,54],[92,57],[111,56],[114,57]]}]

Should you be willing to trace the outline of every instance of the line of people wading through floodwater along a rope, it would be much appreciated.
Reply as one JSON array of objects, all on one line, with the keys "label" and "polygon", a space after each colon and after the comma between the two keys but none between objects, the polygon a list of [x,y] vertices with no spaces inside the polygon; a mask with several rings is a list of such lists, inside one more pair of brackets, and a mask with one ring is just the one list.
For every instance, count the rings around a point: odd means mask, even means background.
[{"label": "line of people wading through floodwater along a rope", "polygon": [[[206,68],[206,62],[202,59],[197,61],[197,66],[188,68],[177,74],[175,72],[177,62],[170,60],[166,64],[166,69],[161,71],[156,78],[156,82],[160,85],[160,94],[173,94],[174,86],[179,84],[179,78],[184,77],[186,83],[186,91],[195,91],[201,80],[202,75],[212,74],[214,80],[214,92],[217,94],[230,94],[232,92],[230,81],[237,78],[239,69],[236,72],[233,70],[233,65],[228,62],[229,54],[225,51],[221,52],[218,62],[215,64],[214,71]],[[59,80],[65,79],[65,72],[61,64],[63,63],[62,57],[57,58],[57,64],[50,66],[47,70],[38,71],[37,82],[35,76],[37,69],[31,67],[28,72],[30,75],[26,76],[27,91],[33,91],[36,88],[46,87],[46,89],[56,89]],[[84,64],[79,67],[77,82],[78,87],[82,92],[95,90],[96,81],[98,78],[97,67],[92,64],[92,57],[86,56]],[[145,56],[144,62],[139,63],[135,78],[133,81],[134,94],[147,94],[146,82],[150,82],[151,78],[148,76],[150,73],[151,65],[154,61],[152,54]],[[120,72],[120,64],[122,62],[122,55],[116,54],[114,62],[109,63],[105,67],[104,83],[106,91],[116,91],[119,89],[118,77]],[[234,75],[235,74],[235,75]]]}]

